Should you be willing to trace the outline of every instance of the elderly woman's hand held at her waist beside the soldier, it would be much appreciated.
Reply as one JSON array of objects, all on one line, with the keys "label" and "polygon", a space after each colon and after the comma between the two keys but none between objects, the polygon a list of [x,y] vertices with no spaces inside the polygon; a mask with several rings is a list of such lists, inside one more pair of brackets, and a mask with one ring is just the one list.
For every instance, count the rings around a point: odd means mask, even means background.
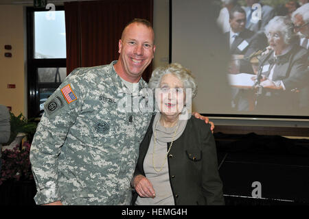
[{"label": "elderly woman's hand held at her waist beside the soldier", "polygon": [[142,198],[155,198],[156,196],[152,183],[143,175],[137,175],[134,178],[133,186],[137,194]]}]

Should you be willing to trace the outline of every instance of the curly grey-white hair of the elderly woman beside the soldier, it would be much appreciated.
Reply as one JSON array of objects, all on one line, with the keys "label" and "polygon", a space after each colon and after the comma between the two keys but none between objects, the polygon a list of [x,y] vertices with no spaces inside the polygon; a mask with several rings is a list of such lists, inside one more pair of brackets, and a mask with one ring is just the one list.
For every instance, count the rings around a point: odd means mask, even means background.
[{"label": "curly grey-white hair of the elderly woman beside the soldier", "polygon": [[183,67],[178,63],[171,63],[166,67],[156,68],[152,72],[152,76],[149,80],[148,86],[155,93],[155,89],[159,88],[161,79],[163,75],[172,74],[176,76],[179,80],[183,81],[183,88],[191,88],[192,89],[192,99],[196,96],[197,93],[197,85],[194,80],[194,76],[191,73],[191,70]]}]

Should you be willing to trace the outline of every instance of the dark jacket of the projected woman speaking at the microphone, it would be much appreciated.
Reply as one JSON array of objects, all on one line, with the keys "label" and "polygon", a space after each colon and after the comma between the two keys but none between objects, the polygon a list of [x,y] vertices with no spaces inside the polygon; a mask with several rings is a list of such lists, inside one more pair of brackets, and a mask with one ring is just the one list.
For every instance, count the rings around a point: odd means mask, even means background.
[{"label": "dark jacket of the projected woman speaking at the microphone", "polygon": [[[264,55],[260,59],[259,73],[269,76],[271,67],[276,64],[273,73],[273,81],[282,81],[286,90],[264,89],[263,94],[258,99],[258,110],[262,113],[272,114],[270,109],[276,114],[307,115],[308,110],[303,109],[307,99],[300,99],[299,92],[308,86],[308,51],[292,44],[290,51],[284,55],[278,55],[277,60],[273,51]],[[269,66],[269,68],[265,68]]]}]

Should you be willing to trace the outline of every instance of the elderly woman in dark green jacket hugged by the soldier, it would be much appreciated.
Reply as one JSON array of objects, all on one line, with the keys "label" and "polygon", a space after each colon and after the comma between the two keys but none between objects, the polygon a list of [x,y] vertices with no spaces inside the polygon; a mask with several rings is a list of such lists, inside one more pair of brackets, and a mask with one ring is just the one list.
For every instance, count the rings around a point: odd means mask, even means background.
[{"label": "elderly woman in dark green jacket hugged by the soldier", "polygon": [[197,92],[190,70],[157,68],[149,86],[160,112],[139,148],[133,205],[224,205],[214,136],[203,120],[184,116]]}]

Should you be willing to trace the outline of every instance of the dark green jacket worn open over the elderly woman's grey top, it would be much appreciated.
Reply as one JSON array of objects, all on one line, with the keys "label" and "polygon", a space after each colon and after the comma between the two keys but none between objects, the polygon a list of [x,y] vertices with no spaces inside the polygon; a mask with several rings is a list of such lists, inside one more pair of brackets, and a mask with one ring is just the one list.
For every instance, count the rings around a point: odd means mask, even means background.
[{"label": "dark green jacket worn open over the elderly woman's grey top", "polygon": [[[144,158],[152,137],[152,121],[139,146],[136,175],[144,175]],[[170,143],[166,145],[168,147]],[[218,173],[216,143],[210,125],[192,116],[168,155],[170,184],[175,205],[224,205],[222,181]],[[132,204],[137,199],[133,192]]]}]

